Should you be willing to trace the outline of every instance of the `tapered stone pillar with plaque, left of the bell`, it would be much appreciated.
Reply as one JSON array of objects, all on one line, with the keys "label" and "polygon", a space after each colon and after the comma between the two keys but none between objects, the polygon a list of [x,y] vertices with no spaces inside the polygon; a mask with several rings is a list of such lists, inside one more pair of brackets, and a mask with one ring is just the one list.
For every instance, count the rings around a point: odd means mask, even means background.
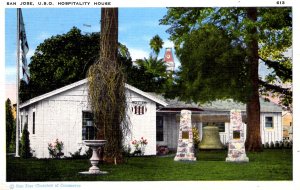
[{"label": "tapered stone pillar with plaque, left of the bell", "polygon": [[175,161],[195,161],[193,131],[192,131],[192,112],[181,110],[180,127],[177,153]]}]

